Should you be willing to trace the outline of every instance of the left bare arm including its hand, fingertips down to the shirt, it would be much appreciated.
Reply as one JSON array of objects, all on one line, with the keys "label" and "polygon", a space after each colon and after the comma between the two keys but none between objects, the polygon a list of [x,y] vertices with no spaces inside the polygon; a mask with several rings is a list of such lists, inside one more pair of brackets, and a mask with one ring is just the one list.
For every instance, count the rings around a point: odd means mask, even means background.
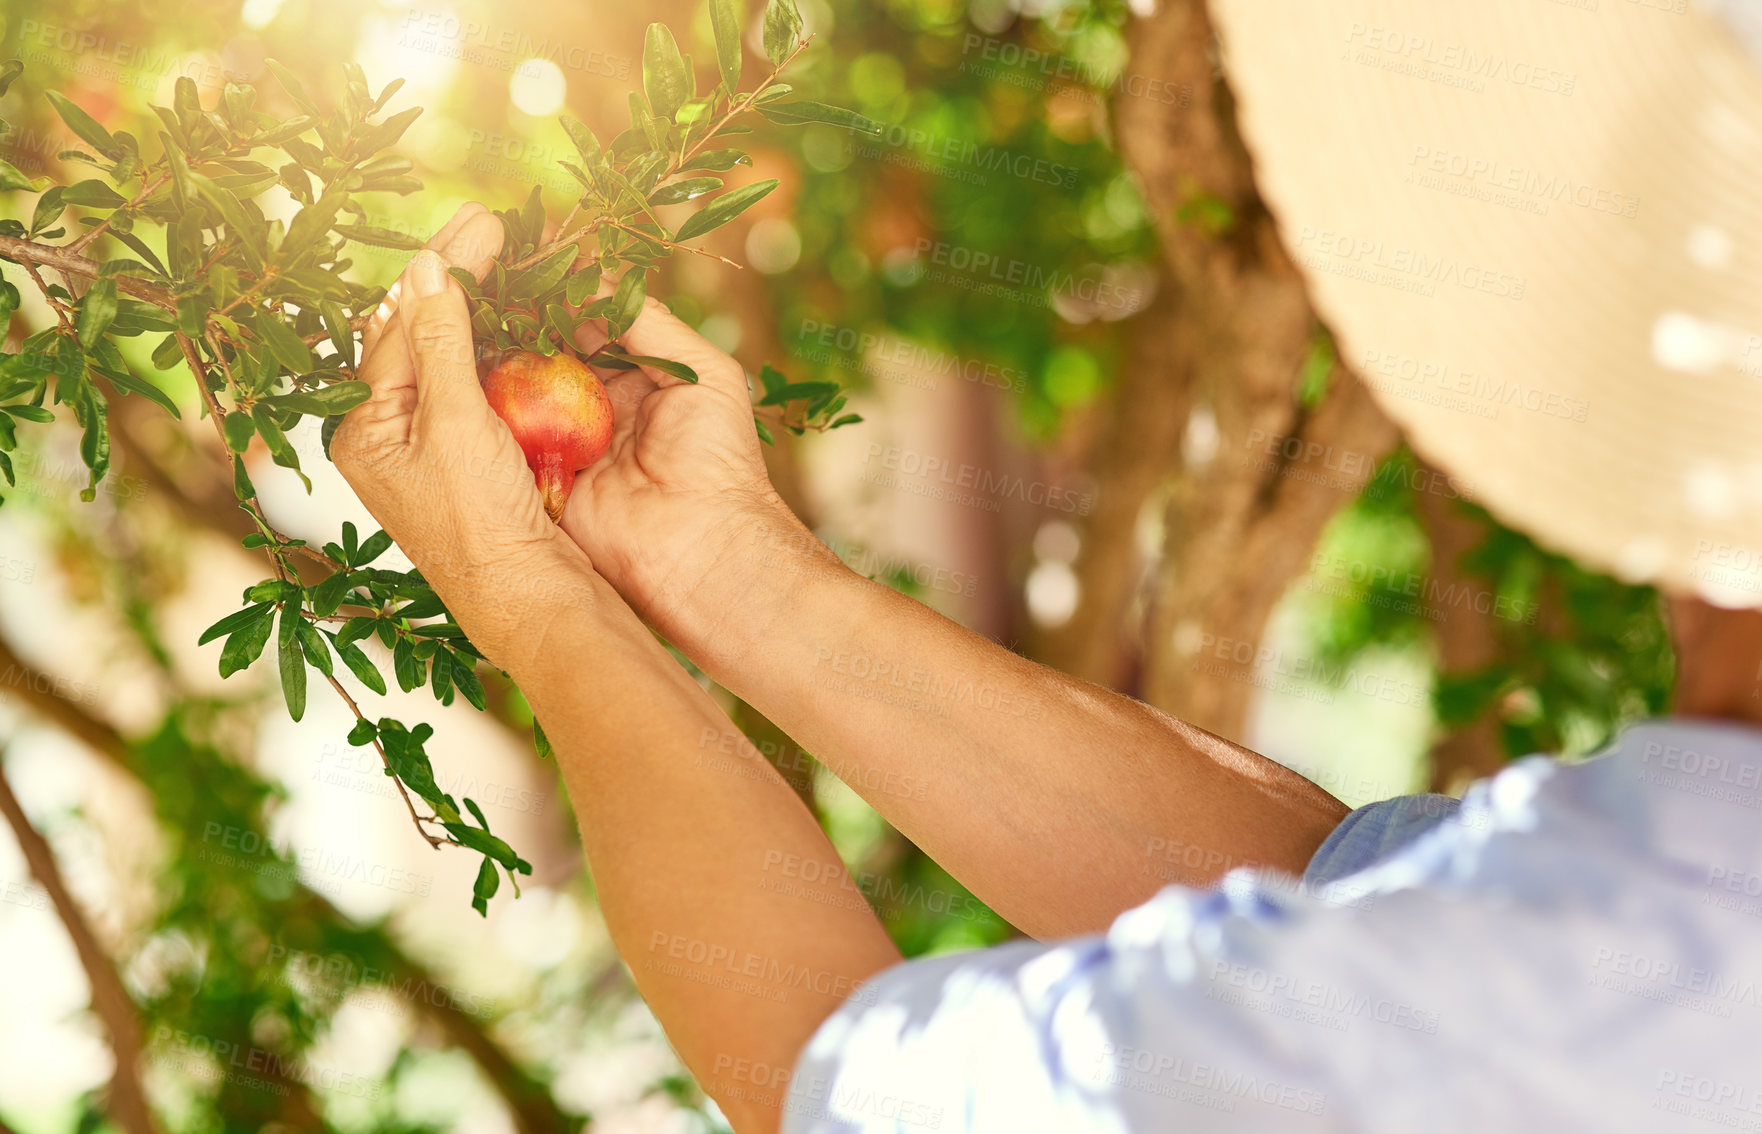
[{"label": "left bare arm including its hand, fingertips down to the shirt", "polygon": [[[435,243],[481,276],[500,224],[467,208]],[[530,697],[613,944],[680,1058],[742,1134],[775,1130],[807,1037],[897,949],[860,896],[844,900],[840,872],[814,893],[772,886],[781,858],[837,856],[768,764],[703,766],[700,738],[728,718],[544,518],[433,254],[412,259],[366,340],[372,398],[337,431],[337,467]]]}]

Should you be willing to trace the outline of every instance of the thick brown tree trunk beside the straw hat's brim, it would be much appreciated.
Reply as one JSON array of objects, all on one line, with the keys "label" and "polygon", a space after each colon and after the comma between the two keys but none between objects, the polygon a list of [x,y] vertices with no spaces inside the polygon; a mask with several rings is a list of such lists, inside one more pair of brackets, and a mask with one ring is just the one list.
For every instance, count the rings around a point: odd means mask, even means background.
[{"label": "thick brown tree trunk beside the straw hat's brim", "polygon": [[[1226,643],[1258,648],[1267,616],[1322,528],[1359,493],[1396,430],[1337,364],[1320,403],[1304,409],[1297,398],[1320,324],[1255,190],[1214,58],[1202,0],[1170,0],[1133,25],[1129,70],[1173,83],[1186,104],[1138,97],[1115,104],[1121,148],[1156,218],[1170,291],[1168,303],[1152,308],[1154,322],[1140,317],[1145,342],[1135,356],[1144,368],[1124,380],[1158,394],[1122,396],[1115,433],[1149,431],[1161,446],[1186,440],[1163,449],[1156,467],[1168,504],[1163,558],[1149,581],[1144,696],[1240,740],[1253,662],[1214,659]],[[1115,507],[1136,514],[1151,479],[1105,479],[1117,460],[1098,456],[1098,498],[1117,491]],[[1089,553],[1129,560],[1121,548],[1133,526],[1110,519]],[[1098,588],[1098,602],[1119,604],[1114,579]],[[1098,653],[1105,650],[1091,644],[1077,657],[1094,664],[1087,659]]]}]

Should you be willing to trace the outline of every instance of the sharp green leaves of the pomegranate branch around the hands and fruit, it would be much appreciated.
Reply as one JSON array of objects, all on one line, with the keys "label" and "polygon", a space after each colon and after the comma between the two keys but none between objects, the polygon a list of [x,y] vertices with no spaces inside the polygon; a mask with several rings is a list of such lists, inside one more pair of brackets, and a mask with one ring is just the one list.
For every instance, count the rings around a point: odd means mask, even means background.
[{"label": "sharp green leaves of the pomegranate branch around the hands and fruit", "polygon": [[[745,93],[737,90],[738,5],[712,0],[710,12],[717,86],[700,93],[673,33],[652,25],[643,51],[647,97],[631,93],[631,127],[601,146],[583,123],[564,118],[580,151],[580,162],[564,167],[581,183],[581,197],[559,234],[546,232],[534,190],[525,204],[500,213],[506,247],[490,278],[479,285],[469,273],[456,273],[486,350],[576,350],[574,331],[587,320],[604,320],[608,342],[589,363],[650,366],[696,380],[689,366],[629,354],[618,338],[641,313],[650,268],[680,248],[701,252],[685,241],[731,222],[777,187],[766,180],[726,188],[714,176],[751,166],[745,153],[721,144],[745,130],[733,120],[758,111],[777,122],[879,130],[851,111],[782,100],[789,86],[777,77],[807,46],[795,0],[770,0],[765,48],[775,69]],[[370,224],[363,197],[421,188],[411,160],[393,151],[421,107],[388,111],[402,79],[375,93],[356,63],[344,63],[333,109],[322,107],[287,67],[270,60],[268,69],[296,114],[259,109],[259,92],[243,83],[227,83],[206,107],[196,83],[183,76],[173,106],[150,107],[157,123],[152,137],[141,139],[113,132],[74,100],[49,92],[56,114],[90,148],[63,151],[62,160],[92,166],[102,176],[58,185],[0,162],[0,188],[37,192],[28,224],[0,220],[0,259],[23,266],[55,312],[55,326],[0,357],[0,475],[16,484],[9,456],[18,446],[16,423],[49,423],[51,407],[65,405],[81,426],[88,470],[81,498],[93,500],[109,470],[111,398],[134,394],[180,414],[166,386],[137,373],[118,349],[122,338],[155,336],[153,370],[194,375],[203,412],[231,461],[238,504],[255,526],[243,544],[263,549],[273,567],[273,578],[247,588],[243,608],[211,625],[201,643],[222,641],[220,674],[231,676],[255,662],[273,637],[282,696],[294,720],[305,715],[315,671],[356,717],[351,741],[379,752],[423,838],[483,854],[472,905],[486,912],[499,889],[497,870],[513,879],[530,873],[530,865],[490,833],[476,801],[460,803],[439,791],[423,750],[432,725],[370,718],[337,669],[342,660],[354,681],[386,694],[381,662],[363,650],[372,637],[389,652],[393,680],[403,692],[428,687],[440,704],[463,697],[483,710],[486,694],[476,671],[483,655],[421,572],[374,567],[391,546],[384,532],[361,541],[345,523],[342,539],[322,548],[277,532],[243,460],[261,442],[275,465],[292,470],[310,490],[291,435],[308,417],[321,421],[328,454],[344,414],[368,398],[368,386],[356,375],[356,336],[384,289],[351,278],[349,245],[419,247]],[[0,93],[21,72],[18,60],[0,67]],[[292,202],[285,217],[266,211],[261,197],[271,190]],[[677,227],[663,222],[663,210],[685,204],[692,211]],[[118,245],[115,255],[97,259],[97,250],[111,243]],[[62,282],[51,282],[46,269]],[[0,282],[0,313],[11,315],[19,303],[18,287]],[[837,416],[844,400],[835,384],[791,386],[770,368],[765,375],[765,405],[784,414],[793,405],[796,412],[784,424],[795,431],[858,421],[855,414]],[[763,421],[758,428],[770,438]],[[537,727],[534,740],[541,752],[548,750]],[[418,814],[411,796],[428,814]]]}]

